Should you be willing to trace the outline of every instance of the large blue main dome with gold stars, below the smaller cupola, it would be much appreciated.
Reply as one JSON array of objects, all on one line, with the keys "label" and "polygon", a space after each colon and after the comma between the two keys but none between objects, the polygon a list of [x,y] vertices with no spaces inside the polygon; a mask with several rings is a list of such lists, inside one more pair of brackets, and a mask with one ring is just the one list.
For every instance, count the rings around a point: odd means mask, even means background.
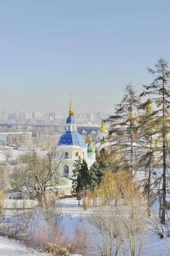
[{"label": "large blue main dome with gold stars, below the smaller cupola", "polygon": [[66,131],[59,138],[58,145],[76,145],[80,147],[85,147],[85,140],[77,131]]}]

